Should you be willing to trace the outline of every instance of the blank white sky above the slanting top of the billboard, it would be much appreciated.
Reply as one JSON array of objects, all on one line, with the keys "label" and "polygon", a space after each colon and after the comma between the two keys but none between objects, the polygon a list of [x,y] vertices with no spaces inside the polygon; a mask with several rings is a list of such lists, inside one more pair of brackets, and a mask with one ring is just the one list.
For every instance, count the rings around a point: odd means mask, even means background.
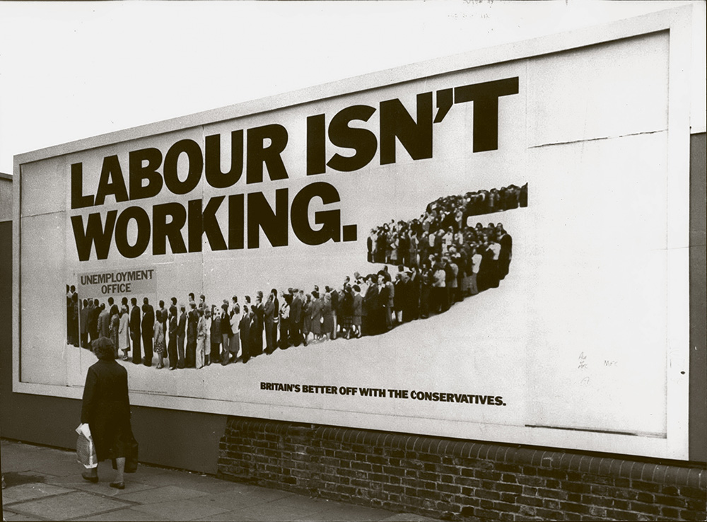
[{"label": "blank white sky above the slanting top of the billboard", "polygon": [[0,2],[0,172],[18,153],[684,3]]}]

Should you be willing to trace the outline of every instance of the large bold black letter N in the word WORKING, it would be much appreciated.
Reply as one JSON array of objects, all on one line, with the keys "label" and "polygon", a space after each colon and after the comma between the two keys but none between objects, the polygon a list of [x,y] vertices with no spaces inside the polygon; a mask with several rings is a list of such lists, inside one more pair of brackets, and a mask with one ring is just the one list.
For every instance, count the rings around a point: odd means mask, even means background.
[{"label": "large bold black letter N in the word WORKING", "polygon": [[248,248],[259,248],[260,231],[274,247],[287,246],[287,189],[275,191],[275,211],[262,192],[248,195]]}]

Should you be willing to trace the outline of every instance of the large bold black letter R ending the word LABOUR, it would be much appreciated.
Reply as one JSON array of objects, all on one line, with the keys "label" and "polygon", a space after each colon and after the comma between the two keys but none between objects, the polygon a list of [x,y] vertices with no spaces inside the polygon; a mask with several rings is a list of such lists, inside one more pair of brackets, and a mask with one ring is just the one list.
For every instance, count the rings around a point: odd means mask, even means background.
[{"label": "large bold black letter R ending the word LABOUR", "polygon": [[[264,146],[265,139],[270,140]],[[287,129],[280,124],[263,125],[248,129],[248,157],[245,182],[260,183],[263,180],[263,163],[267,166],[270,179],[286,180],[287,171],[280,153],[287,146]]]}]

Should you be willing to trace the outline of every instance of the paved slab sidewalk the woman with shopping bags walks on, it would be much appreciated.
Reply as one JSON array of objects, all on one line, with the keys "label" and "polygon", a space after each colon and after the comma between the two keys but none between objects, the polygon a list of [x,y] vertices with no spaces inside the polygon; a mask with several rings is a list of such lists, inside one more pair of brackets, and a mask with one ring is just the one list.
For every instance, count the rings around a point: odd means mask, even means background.
[{"label": "paved slab sidewalk the woman with shopping bags walks on", "polygon": [[76,453],[16,441],[1,443],[3,516],[6,521],[431,521],[343,502],[140,465],[125,475],[125,489],[81,479]]}]

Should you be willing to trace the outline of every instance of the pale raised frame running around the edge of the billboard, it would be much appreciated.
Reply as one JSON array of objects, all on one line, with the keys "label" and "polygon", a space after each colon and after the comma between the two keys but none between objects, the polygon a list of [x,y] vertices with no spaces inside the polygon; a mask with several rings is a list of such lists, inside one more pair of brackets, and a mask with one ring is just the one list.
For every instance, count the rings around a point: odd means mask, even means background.
[{"label": "pale raised frame running around the edge of the billboard", "polygon": [[[52,146],[15,156],[13,165],[13,392],[54,397],[80,399],[82,388],[76,386],[46,385],[25,383],[21,375],[21,198],[22,168],[26,163],[33,163],[47,158],[63,156],[77,151],[89,151],[108,144],[139,139],[142,137],[166,134],[177,130],[214,124],[238,117],[284,109],[310,103],[312,100],[326,100],[341,95],[360,93],[385,86],[395,86],[408,81],[429,76],[464,71],[481,66],[489,66],[520,59],[539,57],[545,54],[576,50],[617,40],[624,40],[641,35],[667,31],[669,34],[669,77],[668,77],[668,122],[667,122],[667,172],[668,180],[668,295],[667,295],[667,438],[647,440],[641,454],[664,458],[688,458],[688,417],[689,417],[689,262],[680,250],[689,246],[689,145],[691,129],[691,6],[659,11],[645,16],[630,18],[605,25],[599,25],[571,33],[549,35],[533,40],[513,42],[484,50],[466,52],[443,59],[434,59],[418,64],[401,66],[396,69],[375,72],[344,79],[323,86],[313,86],[300,91],[275,95],[260,100],[252,100],[226,108],[217,108],[193,115],[177,117],[163,122],[146,124],[131,129],[102,134],[67,144]],[[674,371],[671,371],[674,369]],[[682,369],[682,370],[681,370]],[[146,407],[160,407],[174,410],[189,410],[215,414],[229,414],[230,403],[217,400],[172,397],[151,393],[133,393],[132,403]],[[278,419],[294,422],[313,422],[331,424],[326,410],[306,409],[305,419],[297,407],[280,405],[243,404],[241,414],[266,419]],[[305,410],[305,409],[303,409]],[[358,412],[338,412],[343,424],[351,427],[366,427],[390,431],[390,419],[380,414],[366,414],[361,421]],[[424,422],[421,422],[424,421]],[[453,423],[454,421],[449,421]],[[422,424],[422,426],[421,426]],[[428,424],[428,425],[426,425]],[[438,434],[450,436],[450,433],[438,431],[431,419],[407,418],[396,422],[396,431],[410,433]],[[519,435],[519,433],[521,433]],[[583,434],[592,446],[604,448],[615,453],[633,453],[634,436],[617,434]],[[479,436],[479,439],[484,439]],[[523,443],[560,448],[576,448],[560,430],[539,429],[533,427],[496,425],[493,441]],[[491,439],[487,439],[491,440]],[[589,442],[588,442],[589,444]]]}]

